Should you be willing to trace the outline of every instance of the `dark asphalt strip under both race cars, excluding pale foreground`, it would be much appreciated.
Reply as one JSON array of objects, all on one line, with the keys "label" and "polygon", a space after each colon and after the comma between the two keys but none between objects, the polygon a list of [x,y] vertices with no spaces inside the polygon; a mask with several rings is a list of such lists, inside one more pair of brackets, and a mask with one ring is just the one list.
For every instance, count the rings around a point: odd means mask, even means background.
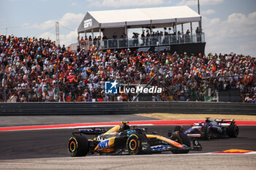
[{"label": "dark asphalt strip under both race cars, excluding pale foreground", "polygon": [[[148,134],[157,131],[157,134],[167,136],[168,129],[172,130],[174,126],[145,127],[148,128]],[[184,128],[189,128],[189,126],[184,126]],[[229,149],[256,151],[256,126],[240,126],[239,128],[238,138],[200,140],[203,146],[203,151],[200,152],[218,152]],[[71,133],[72,129],[1,132],[0,160],[69,157],[67,142],[72,136]],[[192,152],[195,151],[190,153]]]}]

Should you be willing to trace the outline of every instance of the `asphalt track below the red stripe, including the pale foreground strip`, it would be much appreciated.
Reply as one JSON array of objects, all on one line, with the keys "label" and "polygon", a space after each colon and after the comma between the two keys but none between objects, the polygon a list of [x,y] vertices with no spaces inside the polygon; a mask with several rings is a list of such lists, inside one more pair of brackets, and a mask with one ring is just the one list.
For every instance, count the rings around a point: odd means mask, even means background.
[{"label": "asphalt track below the red stripe, including the pale foreground strip", "polygon": [[[129,119],[129,117],[126,118]],[[140,117],[140,119],[142,118]],[[5,123],[8,124],[7,121]],[[144,127],[148,128],[148,134],[157,131],[157,134],[167,136],[167,131],[172,130],[174,126]],[[184,126],[184,129],[186,128],[189,126]],[[132,167],[131,169],[157,169],[160,165],[162,165],[162,169],[169,169],[171,166],[176,169],[212,169],[216,166],[215,163],[219,163],[217,167],[224,169],[256,169],[256,154],[203,154],[229,149],[256,151],[256,126],[239,126],[239,130],[238,138],[200,140],[203,151],[192,151],[189,152],[192,154],[188,155],[173,155],[171,152],[163,152],[159,155],[97,157],[92,155],[86,158],[71,158],[69,156],[67,142],[72,136],[72,129],[3,131],[0,132],[0,169],[121,169],[121,167],[125,169],[130,169],[130,167]],[[193,153],[202,153],[203,155],[194,155]],[[96,164],[94,160],[97,160]],[[116,161],[118,163],[115,164]],[[184,161],[189,162],[185,163],[187,166],[184,166]],[[129,162],[134,163],[131,165]],[[114,164],[102,166],[111,163]],[[173,165],[173,163],[176,164]],[[141,164],[147,166],[141,166]],[[206,165],[208,168],[205,168]],[[87,168],[84,168],[85,166]]]}]

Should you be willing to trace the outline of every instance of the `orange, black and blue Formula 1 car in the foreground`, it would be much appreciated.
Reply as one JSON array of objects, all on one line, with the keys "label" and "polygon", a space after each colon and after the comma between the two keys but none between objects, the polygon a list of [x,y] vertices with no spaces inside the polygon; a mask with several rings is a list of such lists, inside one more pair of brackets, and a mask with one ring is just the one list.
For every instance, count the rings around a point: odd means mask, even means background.
[{"label": "orange, black and blue Formula 1 car in the foreground", "polygon": [[[128,122],[116,125],[107,131],[104,128],[85,128],[73,132],[69,139],[68,150],[72,157],[99,155],[137,155],[171,151],[188,153],[189,150],[202,150],[196,139],[189,140],[187,134],[176,128],[170,137],[146,134],[146,128],[130,127]],[[95,135],[87,139],[87,135]]]}]

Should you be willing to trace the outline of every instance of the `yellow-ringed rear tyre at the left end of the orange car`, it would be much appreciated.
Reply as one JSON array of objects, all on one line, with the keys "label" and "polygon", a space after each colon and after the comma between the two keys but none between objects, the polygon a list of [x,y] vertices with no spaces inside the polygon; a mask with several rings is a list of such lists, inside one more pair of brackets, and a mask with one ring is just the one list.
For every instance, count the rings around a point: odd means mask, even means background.
[{"label": "yellow-ringed rear tyre at the left end of the orange car", "polygon": [[89,142],[86,136],[73,136],[69,139],[68,149],[72,157],[86,156],[89,152]]}]

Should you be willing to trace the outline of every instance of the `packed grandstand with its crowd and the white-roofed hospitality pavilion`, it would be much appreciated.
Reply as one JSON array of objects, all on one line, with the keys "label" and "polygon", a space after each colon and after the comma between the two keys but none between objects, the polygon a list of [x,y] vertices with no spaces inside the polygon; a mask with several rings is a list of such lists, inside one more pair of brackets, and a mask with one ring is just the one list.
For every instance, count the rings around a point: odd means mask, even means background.
[{"label": "packed grandstand with its crowd and the white-roofed hospitality pavilion", "polygon": [[[71,47],[1,36],[0,102],[134,101],[138,94],[126,90],[106,93],[105,82],[115,81],[162,89],[140,101],[256,103],[255,58],[204,54],[204,33],[192,34],[200,20],[186,6],[98,11],[86,13]],[[143,35],[129,37],[133,28]]]}]

